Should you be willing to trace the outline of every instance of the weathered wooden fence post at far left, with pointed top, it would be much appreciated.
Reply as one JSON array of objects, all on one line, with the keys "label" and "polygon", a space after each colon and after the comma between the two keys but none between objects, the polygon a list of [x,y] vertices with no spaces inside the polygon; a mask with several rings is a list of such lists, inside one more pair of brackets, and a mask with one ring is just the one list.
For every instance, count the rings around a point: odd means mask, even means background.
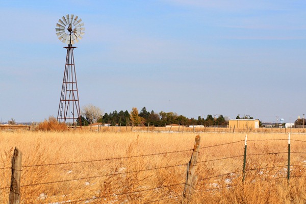
[{"label": "weathered wooden fence post at far left, with pointed top", "polygon": [[21,175],[22,152],[17,147],[14,149],[12,158],[12,180],[9,196],[9,204],[19,204],[20,202],[20,175]]}]

